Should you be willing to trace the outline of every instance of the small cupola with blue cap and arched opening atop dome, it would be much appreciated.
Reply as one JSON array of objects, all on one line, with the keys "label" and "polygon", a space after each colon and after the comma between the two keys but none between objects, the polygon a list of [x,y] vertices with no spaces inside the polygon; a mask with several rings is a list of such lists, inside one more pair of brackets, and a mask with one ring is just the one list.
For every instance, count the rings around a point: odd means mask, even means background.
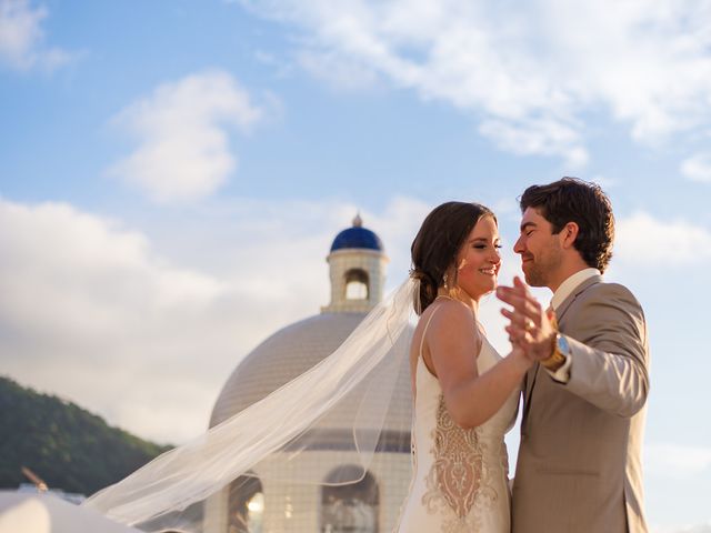
[{"label": "small cupola with blue cap and arched opening atop dome", "polygon": [[363,228],[360,214],[351,228],[336,235],[326,260],[331,302],[321,308],[322,313],[367,313],[382,300],[388,257],[380,238]]}]

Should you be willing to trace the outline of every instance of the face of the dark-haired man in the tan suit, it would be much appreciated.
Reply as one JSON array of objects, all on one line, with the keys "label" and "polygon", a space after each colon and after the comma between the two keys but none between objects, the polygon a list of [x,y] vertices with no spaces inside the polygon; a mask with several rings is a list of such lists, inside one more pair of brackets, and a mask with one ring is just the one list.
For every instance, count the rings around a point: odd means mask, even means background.
[{"label": "face of the dark-haired man in the tan suit", "polygon": [[550,285],[562,262],[562,248],[551,223],[534,208],[523,212],[513,251],[521,255],[521,270],[529,285]]}]

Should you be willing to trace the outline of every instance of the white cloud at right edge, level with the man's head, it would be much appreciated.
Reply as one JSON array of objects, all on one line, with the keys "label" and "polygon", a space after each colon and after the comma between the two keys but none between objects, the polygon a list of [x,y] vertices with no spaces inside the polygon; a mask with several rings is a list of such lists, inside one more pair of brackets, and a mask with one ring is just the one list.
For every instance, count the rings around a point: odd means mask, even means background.
[{"label": "white cloud at right edge, level with the man's head", "polygon": [[711,260],[711,231],[638,212],[617,221],[614,254],[623,263],[650,268],[707,262]]}]

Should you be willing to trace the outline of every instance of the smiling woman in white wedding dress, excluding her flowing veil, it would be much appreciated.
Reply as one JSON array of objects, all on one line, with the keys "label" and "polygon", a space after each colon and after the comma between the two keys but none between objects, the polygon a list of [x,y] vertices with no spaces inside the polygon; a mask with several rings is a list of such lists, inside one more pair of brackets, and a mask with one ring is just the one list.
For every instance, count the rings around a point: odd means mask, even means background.
[{"label": "smiling woman in white wedding dress, excluding her flowing veil", "polygon": [[477,321],[501,265],[494,214],[483,205],[435,208],[412,243],[420,321],[410,346],[414,473],[402,533],[508,533],[503,434],[532,365],[521,350],[502,359]]}]

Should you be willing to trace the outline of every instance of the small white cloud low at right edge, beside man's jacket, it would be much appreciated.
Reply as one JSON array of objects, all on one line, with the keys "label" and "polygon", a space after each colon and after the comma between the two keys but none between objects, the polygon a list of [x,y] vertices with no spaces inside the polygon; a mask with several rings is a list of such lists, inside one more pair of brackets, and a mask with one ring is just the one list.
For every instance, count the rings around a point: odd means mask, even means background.
[{"label": "small white cloud low at right edge, beside man's jacket", "polygon": [[644,447],[647,472],[654,476],[689,479],[711,467],[711,449],[654,443]]}]

